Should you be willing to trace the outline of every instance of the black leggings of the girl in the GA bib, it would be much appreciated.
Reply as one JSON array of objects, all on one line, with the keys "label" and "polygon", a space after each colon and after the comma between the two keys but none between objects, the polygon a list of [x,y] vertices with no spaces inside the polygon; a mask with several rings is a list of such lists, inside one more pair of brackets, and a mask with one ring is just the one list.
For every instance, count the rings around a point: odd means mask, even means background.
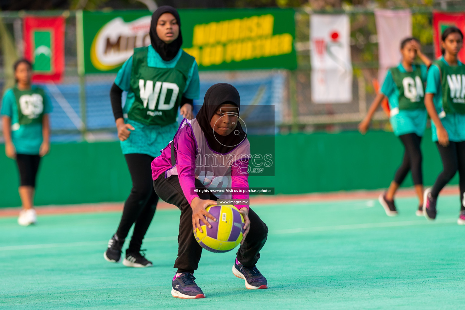
[{"label": "black leggings of the girl in the GA bib", "polygon": [[412,171],[413,184],[423,184],[423,173],[421,171],[421,137],[415,133],[407,133],[399,136],[400,141],[404,144],[404,160],[394,176],[394,182],[401,185],[407,176],[408,171]]}]

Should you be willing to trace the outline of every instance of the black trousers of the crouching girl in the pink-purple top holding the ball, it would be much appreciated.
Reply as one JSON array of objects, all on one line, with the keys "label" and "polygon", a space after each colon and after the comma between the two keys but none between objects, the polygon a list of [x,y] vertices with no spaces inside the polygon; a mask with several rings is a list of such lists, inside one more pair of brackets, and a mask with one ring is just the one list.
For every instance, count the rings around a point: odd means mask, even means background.
[{"label": "black trousers of the crouching girl in the pink-purple top holding the ball", "polygon": [[[178,272],[191,272],[199,266],[200,256],[202,254],[202,247],[195,240],[192,227],[192,208],[187,202],[186,197],[179,184],[178,176],[171,176],[165,178],[162,173],[159,178],[153,181],[153,187],[160,196],[169,204],[176,205],[181,210],[179,218],[179,234],[178,234],[178,258],[174,263],[174,268]],[[205,188],[205,186],[195,179],[196,188]],[[212,194],[200,194],[200,199],[217,200]],[[260,258],[260,250],[263,248],[268,236],[268,227],[259,218],[257,213],[249,209],[250,230],[244,240],[244,243],[237,251],[237,259],[239,263],[246,267],[253,267],[257,264]]]}]

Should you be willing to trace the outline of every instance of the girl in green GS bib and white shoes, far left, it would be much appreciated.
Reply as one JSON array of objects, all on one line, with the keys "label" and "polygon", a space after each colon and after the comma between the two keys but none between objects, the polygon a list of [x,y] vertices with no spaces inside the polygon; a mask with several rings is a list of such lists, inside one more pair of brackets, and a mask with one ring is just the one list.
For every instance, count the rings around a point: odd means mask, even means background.
[{"label": "girl in green GS bib and white shoes, far left", "polygon": [[32,84],[32,65],[27,59],[15,62],[16,85],[5,92],[2,100],[3,135],[7,157],[16,159],[20,172],[20,198],[23,209],[18,224],[37,221],[33,208],[35,181],[40,158],[50,150],[52,104],[44,90]]}]

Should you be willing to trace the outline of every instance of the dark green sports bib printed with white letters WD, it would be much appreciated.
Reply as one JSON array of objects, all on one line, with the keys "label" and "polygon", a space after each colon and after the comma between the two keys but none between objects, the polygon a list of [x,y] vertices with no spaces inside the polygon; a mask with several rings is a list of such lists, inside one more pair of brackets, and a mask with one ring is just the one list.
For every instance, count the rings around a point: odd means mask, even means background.
[{"label": "dark green sports bib printed with white letters WD", "polygon": [[154,68],[147,66],[147,51],[134,49],[130,81],[134,103],[128,118],[144,125],[172,124],[195,59],[183,51],[174,68]]}]

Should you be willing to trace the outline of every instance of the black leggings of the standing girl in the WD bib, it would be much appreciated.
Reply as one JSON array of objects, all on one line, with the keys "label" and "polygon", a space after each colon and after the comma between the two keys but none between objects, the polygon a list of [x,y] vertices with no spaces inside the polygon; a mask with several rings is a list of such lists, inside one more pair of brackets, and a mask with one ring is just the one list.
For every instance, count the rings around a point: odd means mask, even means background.
[{"label": "black leggings of the standing girl in the WD bib", "polygon": [[116,234],[120,239],[125,239],[135,223],[133,237],[126,250],[126,253],[133,253],[140,250],[142,239],[155,215],[158,196],[152,187],[153,157],[146,154],[126,154],[124,157],[131,173],[133,188],[124,203],[123,215]]}]

